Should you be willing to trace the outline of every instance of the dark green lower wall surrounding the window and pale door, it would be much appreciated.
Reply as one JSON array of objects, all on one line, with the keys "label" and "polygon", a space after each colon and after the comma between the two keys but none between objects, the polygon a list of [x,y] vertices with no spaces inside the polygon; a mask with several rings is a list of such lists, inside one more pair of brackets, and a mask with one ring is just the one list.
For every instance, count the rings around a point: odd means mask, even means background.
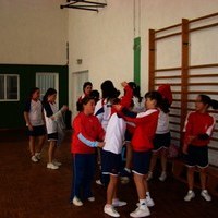
[{"label": "dark green lower wall surrounding the window and pale door", "polygon": [[0,101],[0,129],[25,126],[24,102],[29,89],[36,86],[36,73],[38,72],[59,73],[59,106],[69,105],[68,65],[0,64],[0,74],[20,75],[20,101]]}]

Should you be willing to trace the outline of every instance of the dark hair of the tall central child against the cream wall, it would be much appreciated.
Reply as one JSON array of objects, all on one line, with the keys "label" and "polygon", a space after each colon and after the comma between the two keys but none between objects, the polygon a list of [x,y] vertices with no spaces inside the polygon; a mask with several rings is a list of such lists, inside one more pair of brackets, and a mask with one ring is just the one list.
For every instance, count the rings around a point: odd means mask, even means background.
[{"label": "dark hair of the tall central child against the cream wall", "polygon": [[117,98],[120,95],[120,90],[114,88],[113,83],[111,81],[105,81],[100,85],[102,92],[102,98],[107,98],[108,100],[111,98]]}]

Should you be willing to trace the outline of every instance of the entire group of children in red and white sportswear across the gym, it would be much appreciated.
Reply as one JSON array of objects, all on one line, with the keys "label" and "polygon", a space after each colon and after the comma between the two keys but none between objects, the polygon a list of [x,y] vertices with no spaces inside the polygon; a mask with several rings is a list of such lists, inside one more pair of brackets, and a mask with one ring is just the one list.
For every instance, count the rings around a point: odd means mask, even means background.
[{"label": "entire group of children in red and white sportswear across the gym", "polygon": [[[99,93],[92,93],[93,85],[86,82],[83,86],[84,95],[77,101],[78,113],[72,122],[73,134],[72,153],[72,191],[71,203],[82,206],[84,199],[95,201],[92,183],[95,175],[96,150],[100,149],[101,175],[107,175],[107,199],[104,211],[112,217],[120,217],[116,207],[126,205],[117,196],[119,175],[133,172],[138,203],[131,217],[146,217],[155,203],[150,197],[147,181],[153,178],[157,157],[161,157],[162,171],[160,181],[167,178],[167,150],[170,145],[169,108],[172,94],[169,85],[162,85],[158,90],[148,92],[142,98],[138,87],[134,83],[123,82],[124,96],[119,98],[111,81],[101,84],[101,99]],[[136,95],[137,93],[137,95]],[[59,124],[62,113],[56,107],[57,92],[49,88],[39,101],[39,89],[35,88],[26,104],[24,117],[29,134],[29,149],[33,161],[40,159],[40,150],[45,134],[49,141],[49,161],[47,168],[58,169],[60,162],[55,161],[55,152],[60,140]],[[137,100],[136,100],[136,99]],[[136,104],[138,106],[136,107]],[[140,107],[140,105],[144,107]],[[134,109],[135,108],[137,109]],[[209,107],[218,109],[218,101],[206,95],[196,98],[196,110],[189,113],[184,125],[183,153],[187,166],[189,192],[184,201],[191,201],[195,194],[194,168],[201,172],[201,195],[210,201],[206,190],[206,170],[208,167],[208,144],[216,120],[207,112]],[[45,129],[46,128],[46,129]],[[38,148],[36,149],[36,137]],[[122,169],[122,147],[126,145],[126,165]],[[124,172],[123,172],[124,170]],[[102,182],[102,181],[101,181]]]}]

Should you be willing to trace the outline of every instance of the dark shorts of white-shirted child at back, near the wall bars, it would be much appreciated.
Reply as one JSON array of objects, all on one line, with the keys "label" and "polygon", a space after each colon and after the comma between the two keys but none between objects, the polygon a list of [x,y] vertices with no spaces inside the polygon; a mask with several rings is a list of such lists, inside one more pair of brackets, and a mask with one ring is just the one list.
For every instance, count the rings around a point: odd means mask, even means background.
[{"label": "dark shorts of white-shirted child at back, near the wall bars", "polygon": [[159,149],[169,148],[171,142],[171,135],[170,132],[165,134],[155,134],[155,138],[153,141],[154,144],[154,152],[157,152]]}]

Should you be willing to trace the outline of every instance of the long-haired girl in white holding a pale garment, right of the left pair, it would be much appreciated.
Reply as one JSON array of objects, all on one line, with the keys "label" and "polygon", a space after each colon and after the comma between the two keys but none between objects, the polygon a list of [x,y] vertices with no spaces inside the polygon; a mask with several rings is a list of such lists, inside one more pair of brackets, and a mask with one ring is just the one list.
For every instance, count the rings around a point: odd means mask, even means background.
[{"label": "long-haired girl in white holding a pale garment, right of the left pair", "polygon": [[55,160],[56,149],[57,146],[60,144],[58,143],[60,141],[60,132],[59,126],[62,123],[62,113],[68,110],[68,106],[63,106],[60,110],[58,110],[56,105],[56,98],[57,98],[57,90],[53,88],[49,88],[43,100],[44,105],[44,114],[46,119],[46,128],[47,128],[47,134],[48,134],[48,141],[49,141],[49,149],[48,149],[48,169],[59,169],[59,166],[61,162]]}]

